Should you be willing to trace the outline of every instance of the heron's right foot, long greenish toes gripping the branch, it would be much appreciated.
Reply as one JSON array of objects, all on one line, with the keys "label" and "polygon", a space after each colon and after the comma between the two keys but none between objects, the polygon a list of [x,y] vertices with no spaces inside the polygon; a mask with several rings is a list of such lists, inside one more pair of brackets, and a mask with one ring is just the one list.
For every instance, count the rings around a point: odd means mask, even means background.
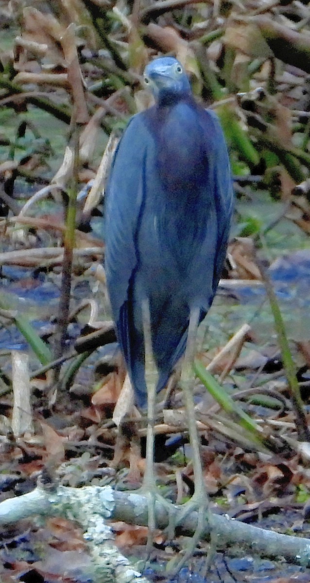
[{"label": "heron's right foot, long greenish toes gripping the branch", "polygon": [[[185,502],[185,504],[182,505],[178,512],[177,520],[175,521],[175,528],[177,528],[177,526],[179,525],[184,524],[186,517],[188,517],[189,514],[192,514],[192,512],[197,513],[196,529],[195,532],[193,533],[191,540],[189,540],[189,544],[186,545],[186,548],[183,551],[181,559],[179,558],[180,555],[179,553],[178,557],[175,557],[174,559],[171,559],[171,561],[169,561],[167,565],[167,571],[171,576],[176,575],[178,571],[188,562],[188,560],[191,559],[193,553],[195,553],[195,549],[199,541],[202,539],[203,532],[205,531],[206,528],[206,523],[208,522],[210,528],[210,535],[212,533],[212,519],[210,519],[210,517],[212,518],[212,515],[209,510],[209,498],[207,496],[205,489],[202,489],[201,491],[199,490],[197,492],[195,491],[191,500]],[[207,558],[208,565],[210,564],[213,552],[214,549],[213,545],[211,544]]]}]

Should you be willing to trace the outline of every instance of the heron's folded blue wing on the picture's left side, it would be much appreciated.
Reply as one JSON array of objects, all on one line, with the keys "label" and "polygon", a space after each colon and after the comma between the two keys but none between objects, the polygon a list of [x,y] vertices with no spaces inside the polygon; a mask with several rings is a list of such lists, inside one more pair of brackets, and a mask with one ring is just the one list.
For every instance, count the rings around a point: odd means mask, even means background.
[{"label": "heron's folded blue wing on the picture's left side", "polygon": [[143,338],[139,337],[133,321],[132,282],[138,264],[135,238],[145,195],[148,139],[140,115],[135,115],[112,161],[105,206],[105,272],[112,313],[129,375],[132,380],[135,378],[135,385],[141,387],[143,394],[146,391],[144,357],[140,354]]}]

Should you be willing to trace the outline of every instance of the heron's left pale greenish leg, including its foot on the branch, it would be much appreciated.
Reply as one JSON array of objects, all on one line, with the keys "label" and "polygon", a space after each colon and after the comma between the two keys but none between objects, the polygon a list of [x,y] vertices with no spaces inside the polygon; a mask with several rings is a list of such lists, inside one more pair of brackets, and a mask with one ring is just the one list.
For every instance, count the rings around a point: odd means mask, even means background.
[{"label": "heron's left pale greenish leg, including its foot on the branch", "polygon": [[156,500],[167,507],[170,517],[172,516],[173,505],[159,494],[156,487],[156,477],[154,475],[154,418],[158,373],[153,358],[150,308],[147,300],[144,300],[142,303],[142,318],[145,338],[145,377],[147,386],[146,469],[143,477],[142,492],[146,494],[148,500],[149,533],[147,536],[147,549],[150,550],[153,543],[153,533],[156,529]]}]

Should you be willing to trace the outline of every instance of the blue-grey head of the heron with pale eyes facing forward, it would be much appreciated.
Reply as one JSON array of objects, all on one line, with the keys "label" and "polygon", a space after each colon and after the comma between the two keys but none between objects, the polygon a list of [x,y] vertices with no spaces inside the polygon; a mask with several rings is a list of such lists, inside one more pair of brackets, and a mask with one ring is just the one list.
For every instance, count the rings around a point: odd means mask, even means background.
[{"label": "blue-grey head of the heron with pale eyes facing forward", "polygon": [[143,73],[145,85],[154,97],[163,94],[183,94],[191,91],[183,66],[173,57],[155,59]]}]

